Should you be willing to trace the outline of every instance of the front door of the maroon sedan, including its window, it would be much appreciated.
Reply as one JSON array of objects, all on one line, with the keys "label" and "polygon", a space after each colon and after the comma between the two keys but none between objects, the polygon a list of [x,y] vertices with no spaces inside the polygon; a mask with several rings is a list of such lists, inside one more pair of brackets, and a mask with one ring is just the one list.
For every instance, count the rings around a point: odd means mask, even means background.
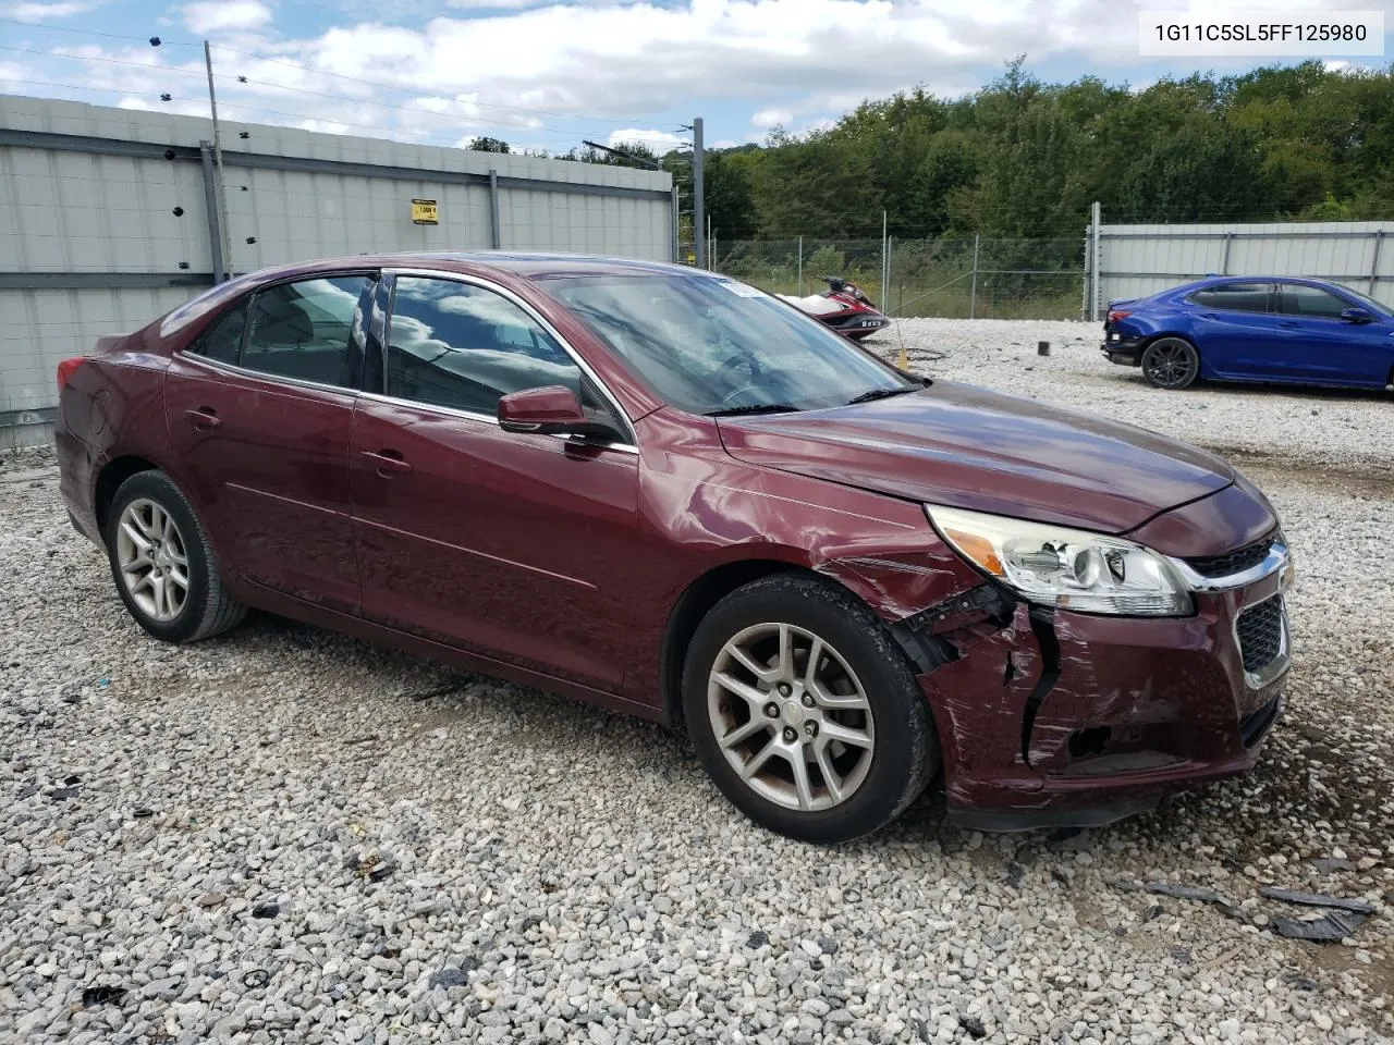
[{"label": "front door of the maroon sedan, including its window", "polygon": [[350,446],[364,616],[618,690],[638,486],[627,426],[616,419],[615,443],[498,426],[499,398],[523,389],[612,404],[496,288],[397,276],[385,346]]}]

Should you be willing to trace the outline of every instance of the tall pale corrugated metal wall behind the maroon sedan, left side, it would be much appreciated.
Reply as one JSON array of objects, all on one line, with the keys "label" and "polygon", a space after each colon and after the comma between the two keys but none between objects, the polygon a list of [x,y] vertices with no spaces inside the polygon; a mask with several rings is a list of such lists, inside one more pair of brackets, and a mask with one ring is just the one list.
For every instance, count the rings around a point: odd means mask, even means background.
[{"label": "tall pale corrugated metal wall behind the maroon sedan, left side", "polygon": [[[669,174],[229,121],[222,134],[234,272],[493,245],[676,254]],[[59,359],[212,284],[210,137],[194,117],[0,96],[0,429],[52,417]],[[413,223],[414,198],[436,201],[439,224]]]}]

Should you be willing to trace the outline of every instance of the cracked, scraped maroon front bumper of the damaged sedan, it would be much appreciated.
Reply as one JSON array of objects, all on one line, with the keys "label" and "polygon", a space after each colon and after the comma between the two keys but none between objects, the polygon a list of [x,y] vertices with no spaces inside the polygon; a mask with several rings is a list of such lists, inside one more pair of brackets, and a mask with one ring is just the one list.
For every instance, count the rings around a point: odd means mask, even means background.
[{"label": "cracked, scraped maroon front bumper of the damaged sedan", "polygon": [[[942,741],[951,821],[984,830],[1096,826],[1250,769],[1291,662],[1281,541],[1209,577],[1184,562],[1189,617],[1086,614],[984,585],[910,621],[948,662],[920,676]],[[984,595],[983,592],[988,592]]]}]

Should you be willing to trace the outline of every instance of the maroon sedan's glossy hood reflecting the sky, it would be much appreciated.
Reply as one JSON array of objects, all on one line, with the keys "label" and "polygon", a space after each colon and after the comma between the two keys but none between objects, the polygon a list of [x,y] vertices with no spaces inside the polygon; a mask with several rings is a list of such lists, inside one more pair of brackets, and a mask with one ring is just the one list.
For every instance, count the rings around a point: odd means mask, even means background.
[{"label": "maroon sedan's glossy hood reflecting the sky", "polygon": [[736,460],[970,511],[1111,534],[1230,486],[1230,465],[1133,425],[958,382],[722,418]]}]

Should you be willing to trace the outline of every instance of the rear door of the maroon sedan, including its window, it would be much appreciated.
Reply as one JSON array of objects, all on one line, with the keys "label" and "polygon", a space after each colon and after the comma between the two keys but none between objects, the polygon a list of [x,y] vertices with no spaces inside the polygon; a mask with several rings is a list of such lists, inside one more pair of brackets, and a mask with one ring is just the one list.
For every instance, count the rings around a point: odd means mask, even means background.
[{"label": "rear door of the maroon sedan, including its window", "polygon": [[347,454],[372,284],[343,273],[265,287],[177,353],[164,379],[177,467],[224,563],[350,613]]}]

